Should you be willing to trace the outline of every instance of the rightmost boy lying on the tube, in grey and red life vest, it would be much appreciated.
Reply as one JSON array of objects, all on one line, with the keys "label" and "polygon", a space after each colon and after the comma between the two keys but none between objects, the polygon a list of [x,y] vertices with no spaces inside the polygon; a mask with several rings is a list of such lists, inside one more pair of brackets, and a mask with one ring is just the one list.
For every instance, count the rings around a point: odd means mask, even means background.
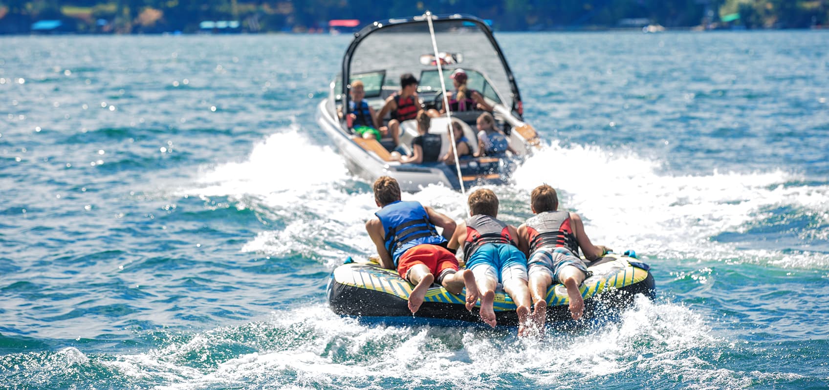
[{"label": "rightmost boy lying on the tube, in grey and red life vest", "polygon": [[518,227],[518,245],[530,259],[529,286],[534,304],[531,316],[541,330],[546,319],[547,290],[553,282],[567,288],[573,320],[579,320],[584,311],[579,286],[590,272],[577,255],[579,248],[589,261],[603,257],[611,249],[590,242],[579,214],[558,209],[559,198],[550,185],[532,190],[530,204],[536,215]]}]

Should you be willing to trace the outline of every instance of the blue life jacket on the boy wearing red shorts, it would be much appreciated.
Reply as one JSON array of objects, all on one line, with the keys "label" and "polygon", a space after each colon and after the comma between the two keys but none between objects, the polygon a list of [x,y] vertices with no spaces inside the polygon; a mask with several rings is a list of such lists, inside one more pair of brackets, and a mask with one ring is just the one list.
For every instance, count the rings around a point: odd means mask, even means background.
[{"label": "blue life jacket on the boy wearing red shorts", "polygon": [[395,267],[400,256],[410,248],[424,243],[440,245],[446,242],[446,238],[438,234],[434,224],[429,222],[429,214],[420,202],[398,200],[385,205],[375,215],[383,224],[385,249],[391,254]]}]

